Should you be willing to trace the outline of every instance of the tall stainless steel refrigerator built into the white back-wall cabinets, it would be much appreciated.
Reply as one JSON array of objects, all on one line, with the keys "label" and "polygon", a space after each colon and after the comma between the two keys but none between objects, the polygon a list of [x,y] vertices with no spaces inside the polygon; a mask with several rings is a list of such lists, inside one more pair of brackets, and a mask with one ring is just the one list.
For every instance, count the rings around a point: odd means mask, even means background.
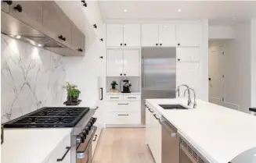
[{"label": "tall stainless steel refrigerator built into the white back-wall cabinets", "polygon": [[175,98],[176,48],[142,48],[142,125],[145,99]]}]

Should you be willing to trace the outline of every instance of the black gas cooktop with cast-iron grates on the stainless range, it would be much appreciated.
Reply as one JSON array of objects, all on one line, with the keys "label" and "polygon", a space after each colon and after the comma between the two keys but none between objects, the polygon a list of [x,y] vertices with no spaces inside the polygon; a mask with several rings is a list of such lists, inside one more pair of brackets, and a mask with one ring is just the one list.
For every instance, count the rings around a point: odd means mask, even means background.
[{"label": "black gas cooktop with cast-iron grates on the stainless range", "polygon": [[89,111],[81,107],[45,107],[6,122],[5,128],[74,127]]}]

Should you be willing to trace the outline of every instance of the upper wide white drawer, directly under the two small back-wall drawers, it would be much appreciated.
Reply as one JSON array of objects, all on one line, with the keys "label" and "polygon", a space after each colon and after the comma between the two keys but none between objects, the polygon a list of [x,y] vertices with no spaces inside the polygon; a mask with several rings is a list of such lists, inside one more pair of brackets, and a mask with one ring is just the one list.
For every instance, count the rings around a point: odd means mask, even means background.
[{"label": "upper wide white drawer, directly under the two small back-wall drawers", "polygon": [[107,108],[109,112],[139,112],[139,101],[113,101],[108,102]]}]

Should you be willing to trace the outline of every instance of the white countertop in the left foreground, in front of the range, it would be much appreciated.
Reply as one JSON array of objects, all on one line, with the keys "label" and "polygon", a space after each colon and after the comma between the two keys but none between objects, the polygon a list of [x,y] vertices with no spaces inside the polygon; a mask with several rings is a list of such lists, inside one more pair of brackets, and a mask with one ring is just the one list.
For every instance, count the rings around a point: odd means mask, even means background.
[{"label": "white countertop in the left foreground, in front of the range", "polygon": [[71,129],[5,129],[1,163],[41,163]]}]

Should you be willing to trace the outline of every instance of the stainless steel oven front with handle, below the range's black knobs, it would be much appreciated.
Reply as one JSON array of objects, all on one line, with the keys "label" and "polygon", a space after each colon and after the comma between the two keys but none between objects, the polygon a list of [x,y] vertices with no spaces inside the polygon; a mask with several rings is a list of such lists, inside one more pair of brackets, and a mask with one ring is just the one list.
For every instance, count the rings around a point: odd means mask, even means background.
[{"label": "stainless steel oven front with handle, below the range's black knobs", "polygon": [[92,163],[92,139],[96,133],[97,127],[85,129],[85,136],[79,136],[77,139],[76,163]]}]

